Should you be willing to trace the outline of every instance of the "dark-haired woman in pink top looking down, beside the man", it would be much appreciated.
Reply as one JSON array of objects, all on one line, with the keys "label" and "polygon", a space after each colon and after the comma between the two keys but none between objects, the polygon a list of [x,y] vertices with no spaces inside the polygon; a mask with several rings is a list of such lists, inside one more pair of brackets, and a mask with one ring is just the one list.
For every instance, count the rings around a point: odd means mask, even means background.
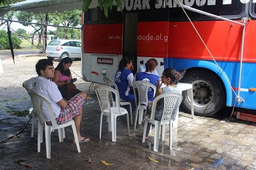
[{"label": "dark-haired woman in pink top looking down, beside the man", "polygon": [[55,68],[54,78],[52,79],[52,81],[58,85],[58,89],[60,90],[62,97],[66,100],[70,100],[74,95],[81,92],[79,89],[74,89],[74,91],[69,92],[65,88],[65,85],[69,84],[72,79],[72,75],[69,70],[72,63],[72,59],[70,58],[61,59],[58,66]]}]

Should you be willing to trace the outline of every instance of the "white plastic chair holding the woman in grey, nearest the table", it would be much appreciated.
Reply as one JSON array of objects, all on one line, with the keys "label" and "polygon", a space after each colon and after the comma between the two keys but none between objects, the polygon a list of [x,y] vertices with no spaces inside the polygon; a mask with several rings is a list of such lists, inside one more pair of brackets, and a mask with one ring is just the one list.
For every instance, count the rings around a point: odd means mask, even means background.
[{"label": "white plastic chair holding the woman in grey, nearest the table", "polygon": [[[163,106],[163,116],[160,121],[155,120],[155,112],[157,102],[163,98],[164,106]],[[165,125],[169,125],[169,147],[172,150],[172,114],[175,107],[177,107],[176,111],[179,111],[180,103],[182,102],[182,95],[179,93],[164,93],[156,97],[153,101],[152,111],[150,116],[146,116],[145,125],[143,130],[143,138],[142,143],[145,143],[146,131],[148,123],[152,123],[155,125],[155,135],[154,135],[154,151],[158,151],[159,146],[159,130],[161,126],[161,141],[164,140],[164,128]],[[179,113],[177,113],[179,114]]]}]

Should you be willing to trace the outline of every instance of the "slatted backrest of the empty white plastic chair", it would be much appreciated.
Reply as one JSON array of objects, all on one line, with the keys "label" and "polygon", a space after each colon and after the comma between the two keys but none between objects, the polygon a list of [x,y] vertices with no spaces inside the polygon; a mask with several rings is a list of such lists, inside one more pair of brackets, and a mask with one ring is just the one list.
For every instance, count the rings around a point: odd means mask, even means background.
[{"label": "slatted backrest of the empty white plastic chair", "polygon": [[[115,89],[106,86],[97,84],[94,86],[96,95],[99,99],[100,109],[102,112],[109,114],[111,112],[111,102],[109,99],[109,95],[112,96],[112,94],[115,96],[116,101],[120,101],[119,93]],[[120,102],[116,102],[115,107],[118,107],[118,110],[120,110]]]}]

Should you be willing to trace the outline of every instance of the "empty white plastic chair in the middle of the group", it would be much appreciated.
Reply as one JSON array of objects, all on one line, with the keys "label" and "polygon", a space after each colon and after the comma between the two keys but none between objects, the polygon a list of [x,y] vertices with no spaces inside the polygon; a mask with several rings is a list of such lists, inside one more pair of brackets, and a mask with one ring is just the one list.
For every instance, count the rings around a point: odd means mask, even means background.
[{"label": "empty white plastic chair in the middle of the group", "polygon": [[[101,114],[100,114],[100,134],[99,139],[101,139],[101,130],[102,130],[102,117],[108,116],[108,130],[112,131],[112,142],[116,142],[116,117],[122,116],[126,114],[127,118],[127,130],[128,135],[130,135],[130,127],[129,127],[129,116],[126,109],[120,107],[120,97],[118,91],[109,86],[105,85],[95,85],[95,92],[99,99]],[[109,100],[109,94],[113,93],[116,98],[116,105],[113,106]],[[112,95],[112,94],[110,94]]]}]

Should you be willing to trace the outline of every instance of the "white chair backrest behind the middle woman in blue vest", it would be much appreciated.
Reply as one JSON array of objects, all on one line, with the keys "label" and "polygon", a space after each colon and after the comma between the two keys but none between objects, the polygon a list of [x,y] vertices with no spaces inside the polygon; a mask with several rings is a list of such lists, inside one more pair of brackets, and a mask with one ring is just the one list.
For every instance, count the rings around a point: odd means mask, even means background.
[{"label": "white chair backrest behind the middle woman in blue vest", "polygon": [[151,84],[150,82],[145,81],[134,81],[132,83],[132,88],[134,91],[134,95],[136,100],[136,104],[138,105],[145,105],[148,104],[148,91],[154,90],[154,96],[156,94],[156,86],[154,84]]}]

